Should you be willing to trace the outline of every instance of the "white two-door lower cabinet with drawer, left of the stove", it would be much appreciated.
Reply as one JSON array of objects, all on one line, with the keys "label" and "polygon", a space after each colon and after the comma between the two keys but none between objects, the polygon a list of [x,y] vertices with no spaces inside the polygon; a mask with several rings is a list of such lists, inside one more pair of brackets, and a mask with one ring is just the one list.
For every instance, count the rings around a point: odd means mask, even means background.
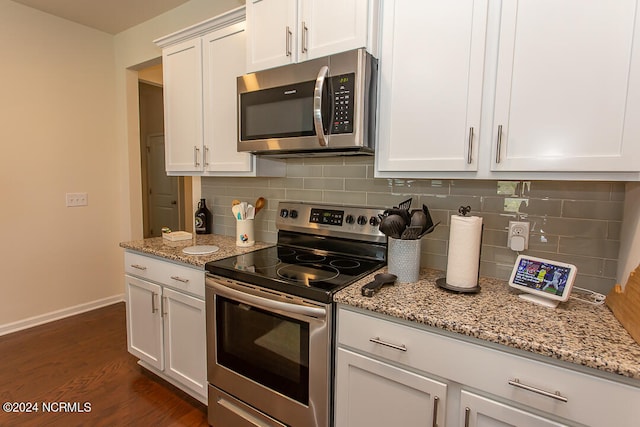
[{"label": "white two-door lower cabinet with drawer, left of the stove", "polygon": [[206,403],[204,272],[129,252],[125,263],[129,352]]}]

